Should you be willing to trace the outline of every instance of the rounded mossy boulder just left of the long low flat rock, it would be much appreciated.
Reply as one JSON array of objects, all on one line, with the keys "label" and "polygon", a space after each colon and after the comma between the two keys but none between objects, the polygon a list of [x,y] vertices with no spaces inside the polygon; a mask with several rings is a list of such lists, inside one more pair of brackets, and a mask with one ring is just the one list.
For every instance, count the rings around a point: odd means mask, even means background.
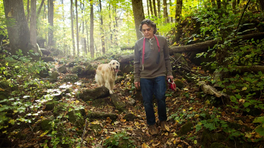
[{"label": "rounded mossy boulder just left of the long low flat rock", "polygon": [[80,110],[72,110],[67,114],[69,116],[69,121],[77,127],[81,127],[85,124],[82,113]]}]

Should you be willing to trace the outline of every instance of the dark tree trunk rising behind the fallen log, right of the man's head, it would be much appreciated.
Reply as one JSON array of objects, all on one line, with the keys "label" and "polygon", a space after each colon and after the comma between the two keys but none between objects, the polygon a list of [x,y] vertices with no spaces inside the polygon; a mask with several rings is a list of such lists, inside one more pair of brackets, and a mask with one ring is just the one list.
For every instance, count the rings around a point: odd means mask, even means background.
[{"label": "dark tree trunk rising behind the fallen log, right of the man's head", "polygon": [[177,0],[176,2],[176,13],[175,13],[175,36],[174,42],[179,42],[181,37],[181,11],[182,11],[182,0]]}]

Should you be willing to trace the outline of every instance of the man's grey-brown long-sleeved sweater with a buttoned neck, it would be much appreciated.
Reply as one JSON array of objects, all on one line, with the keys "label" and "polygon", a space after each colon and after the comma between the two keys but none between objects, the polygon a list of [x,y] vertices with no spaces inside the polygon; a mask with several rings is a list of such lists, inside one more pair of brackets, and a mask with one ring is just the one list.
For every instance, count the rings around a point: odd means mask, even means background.
[{"label": "man's grey-brown long-sleeved sweater with a buttoned neck", "polygon": [[[159,76],[172,75],[171,61],[169,58],[169,47],[167,39],[163,36],[156,35],[159,40],[160,51],[157,41],[152,38],[151,43],[146,38],[145,43],[145,58],[144,70],[142,70],[142,51],[143,51],[143,38],[135,43],[134,48],[134,82],[140,82],[140,78],[155,78]],[[159,63],[156,63],[158,52],[160,52]],[[167,70],[166,70],[167,69]]]}]

